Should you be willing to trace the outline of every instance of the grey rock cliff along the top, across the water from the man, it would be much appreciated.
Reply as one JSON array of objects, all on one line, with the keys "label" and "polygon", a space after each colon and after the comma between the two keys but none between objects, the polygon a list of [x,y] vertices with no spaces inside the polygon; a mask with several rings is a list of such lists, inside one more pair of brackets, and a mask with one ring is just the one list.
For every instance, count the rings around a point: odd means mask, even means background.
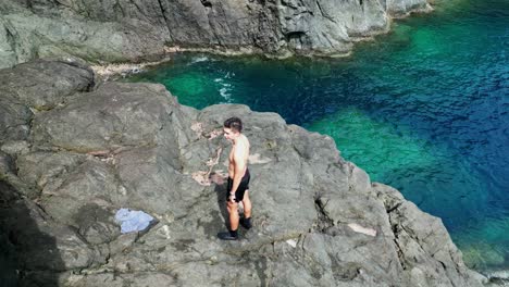
[{"label": "grey rock cliff along the top, across the water from the man", "polygon": [[167,48],[277,57],[347,53],[426,0],[0,1],[0,67],[72,54],[148,61]]}]

